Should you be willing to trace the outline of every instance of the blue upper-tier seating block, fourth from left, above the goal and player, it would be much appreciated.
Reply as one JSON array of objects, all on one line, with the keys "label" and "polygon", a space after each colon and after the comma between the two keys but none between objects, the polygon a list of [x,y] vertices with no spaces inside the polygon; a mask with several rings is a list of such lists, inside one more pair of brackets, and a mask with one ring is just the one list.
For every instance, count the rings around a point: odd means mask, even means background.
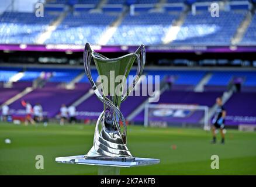
[{"label": "blue upper-tier seating block, fourth from left, above the goal and player", "polygon": [[220,17],[213,18],[208,11],[198,11],[196,15],[190,12],[172,44],[230,45],[246,13],[220,11]]}]

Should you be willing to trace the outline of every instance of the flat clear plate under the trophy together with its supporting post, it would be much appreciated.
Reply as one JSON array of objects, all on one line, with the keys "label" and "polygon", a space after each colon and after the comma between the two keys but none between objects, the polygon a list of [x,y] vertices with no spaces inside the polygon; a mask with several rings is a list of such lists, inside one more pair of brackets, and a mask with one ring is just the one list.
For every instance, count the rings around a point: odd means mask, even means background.
[{"label": "flat clear plate under the trophy together with its supporting post", "polygon": [[136,167],[142,165],[152,165],[158,164],[160,159],[155,158],[138,158],[134,160],[98,160],[98,159],[88,159],[84,155],[76,155],[71,157],[57,157],[55,161],[58,163],[67,163],[67,164],[84,164],[84,165],[98,165],[98,174],[99,175],[119,175],[120,167]]}]

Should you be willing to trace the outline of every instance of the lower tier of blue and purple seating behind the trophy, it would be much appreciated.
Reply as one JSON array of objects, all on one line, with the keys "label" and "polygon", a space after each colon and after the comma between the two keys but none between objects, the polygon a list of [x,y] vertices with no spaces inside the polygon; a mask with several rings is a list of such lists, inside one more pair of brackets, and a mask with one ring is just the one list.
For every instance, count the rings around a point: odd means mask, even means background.
[{"label": "lower tier of blue and purple seating behind the trophy", "polygon": [[[85,95],[91,88],[86,75],[75,84],[75,89],[67,90],[61,85],[63,82],[68,83],[72,81],[77,75],[84,72],[82,69],[63,69],[63,68],[0,68],[1,81],[8,81],[13,75],[18,72],[24,72],[23,77],[18,82],[13,82],[12,88],[0,88],[0,105],[22,92],[25,88],[31,87],[32,82],[36,79],[41,72],[50,72],[53,75],[47,80],[43,88],[36,88],[32,92],[27,93],[22,98],[13,102],[10,105],[13,116],[24,116],[24,108],[20,104],[22,100],[29,101],[34,105],[39,102],[43,104],[44,111],[47,112],[47,116],[53,118],[57,115],[61,103],[70,105],[77,101],[81,96]],[[212,77],[205,85],[205,92],[193,92],[196,85],[202,80],[206,73],[212,73]],[[95,69],[91,70],[93,79],[96,81],[98,72]],[[135,75],[136,71],[132,70],[130,75]],[[237,124],[233,120],[232,116],[243,116],[244,113],[233,111],[233,100],[242,99],[247,101],[246,98],[250,98],[252,101],[256,92],[256,73],[255,71],[185,71],[185,70],[145,70],[144,75],[160,75],[160,82],[171,82],[170,90],[165,91],[160,96],[160,101],[157,103],[172,103],[172,104],[193,104],[193,105],[206,105],[213,106],[217,96],[221,96],[223,91],[226,91],[229,84],[241,84],[241,93],[234,93],[231,97],[231,101],[227,102],[227,109],[229,110],[229,124]],[[171,77],[171,78],[169,78]],[[148,78],[148,77],[147,77]],[[153,84],[154,82],[153,77]],[[140,93],[142,92],[142,85],[140,85]],[[154,88],[154,85],[153,85]],[[153,90],[154,91],[154,90]],[[134,92],[133,92],[134,93]],[[134,94],[133,94],[134,95]],[[67,99],[68,98],[68,99]],[[233,99],[234,98],[234,99]],[[122,103],[121,111],[124,117],[129,116],[134,110],[136,110],[141,103],[148,99],[148,93],[146,96],[129,96],[126,101]],[[249,101],[248,100],[248,101]],[[54,102],[53,102],[54,101]],[[247,101],[247,102],[248,102]],[[130,103],[133,103],[131,105]],[[248,110],[243,104],[243,110]],[[249,105],[249,104],[248,104]],[[242,105],[241,105],[242,106]],[[77,106],[78,119],[85,120],[98,119],[99,113],[103,110],[103,103],[101,103],[95,95],[92,95],[84,102]],[[254,109],[252,109],[254,110]],[[248,113],[248,112],[246,112]],[[251,114],[252,116],[254,113]],[[194,112],[192,115],[186,117],[186,122],[198,123],[203,117],[202,112]],[[142,123],[144,120],[144,110],[139,113],[134,119],[135,123]],[[184,119],[175,119],[175,122],[182,122]]]}]

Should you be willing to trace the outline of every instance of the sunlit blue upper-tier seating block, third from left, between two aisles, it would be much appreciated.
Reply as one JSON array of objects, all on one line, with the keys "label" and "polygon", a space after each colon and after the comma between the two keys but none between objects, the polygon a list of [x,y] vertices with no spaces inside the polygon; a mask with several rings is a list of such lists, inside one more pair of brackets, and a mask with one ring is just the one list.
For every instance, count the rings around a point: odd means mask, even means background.
[{"label": "sunlit blue upper-tier seating block, third from left, between two aisles", "polygon": [[[179,13],[140,13],[126,15],[109,45],[146,45],[161,44],[172,21],[178,18]],[[159,24],[161,23],[161,25]]]}]

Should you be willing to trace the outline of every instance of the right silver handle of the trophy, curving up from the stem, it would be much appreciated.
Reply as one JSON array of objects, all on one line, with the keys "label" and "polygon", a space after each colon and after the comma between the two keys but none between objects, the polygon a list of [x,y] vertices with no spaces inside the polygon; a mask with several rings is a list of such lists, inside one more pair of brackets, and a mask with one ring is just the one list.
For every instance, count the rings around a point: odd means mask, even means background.
[{"label": "right silver handle of the trophy, curving up from the stem", "polygon": [[131,84],[129,86],[126,93],[124,93],[124,95],[122,96],[121,102],[124,102],[127,99],[127,97],[130,95],[130,92],[133,91],[135,85],[139,81],[140,76],[144,70],[144,66],[145,66],[145,62],[146,62],[146,50],[145,50],[144,44],[140,45],[140,47],[135,51],[134,55],[136,56],[137,63],[138,63],[136,76],[133,80],[133,84]]}]

